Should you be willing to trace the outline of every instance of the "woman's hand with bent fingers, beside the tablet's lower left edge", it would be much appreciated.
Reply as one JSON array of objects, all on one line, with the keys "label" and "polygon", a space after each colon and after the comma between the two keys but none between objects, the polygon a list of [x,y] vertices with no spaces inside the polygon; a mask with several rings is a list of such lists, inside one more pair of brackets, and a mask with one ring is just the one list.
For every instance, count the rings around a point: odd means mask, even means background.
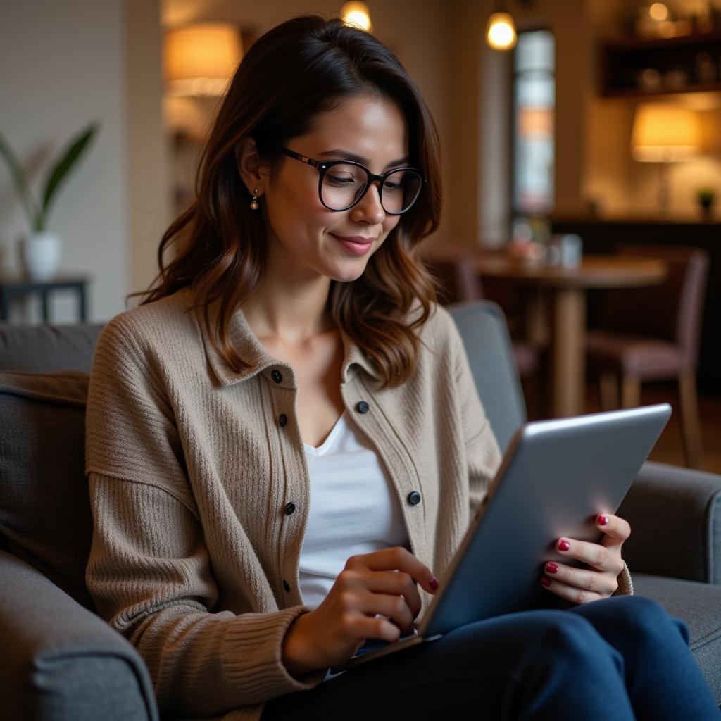
[{"label": "woman's hand with bent fingers, beside the tablet's lower left edge", "polygon": [[368,638],[394,642],[411,634],[421,606],[416,583],[428,593],[438,588],[430,569],[402,547],[350,557],[318,608],[288,628],[283,639],[288,673],[301,676],[344,663]]}]

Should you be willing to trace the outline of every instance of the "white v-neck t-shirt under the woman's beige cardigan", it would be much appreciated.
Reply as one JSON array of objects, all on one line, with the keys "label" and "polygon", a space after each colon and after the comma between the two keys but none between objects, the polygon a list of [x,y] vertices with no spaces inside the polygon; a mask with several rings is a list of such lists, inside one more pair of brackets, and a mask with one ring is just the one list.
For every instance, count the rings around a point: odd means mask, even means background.
[{"label": "white v-neck t-shirt under the woman's beige cardigan", "polygon": [[350,556],[410,544],[386,469],[347,411],[322,446],[304,446],[311,494],[298,573],[316,609]]}]

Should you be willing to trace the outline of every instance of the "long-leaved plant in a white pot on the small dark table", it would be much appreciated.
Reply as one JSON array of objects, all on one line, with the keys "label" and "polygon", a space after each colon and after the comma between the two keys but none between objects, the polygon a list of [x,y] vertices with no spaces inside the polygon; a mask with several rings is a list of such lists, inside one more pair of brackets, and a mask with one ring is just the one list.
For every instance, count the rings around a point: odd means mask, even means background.
[{"label": "long-leaved plant in a white pot on the small dark table", "polygon": [[7,163],[12,180],[15,183],[22,206],[25,208],[30,225],[30,234],[20,244],[20,257],[23,273],[31,280],[48,280],[58,270],[61,255],[61,239],[56,233],[48,231],[48,213],[50,206],[70,170],[84,154],[87,146],[97,132],[98,123],[90,123],[76,137],[71,138],[58,161],[50,169],[42,202],[37,203],[30,191],[30,183],[22,171],[17,157],[0,133],[0,155]]}]

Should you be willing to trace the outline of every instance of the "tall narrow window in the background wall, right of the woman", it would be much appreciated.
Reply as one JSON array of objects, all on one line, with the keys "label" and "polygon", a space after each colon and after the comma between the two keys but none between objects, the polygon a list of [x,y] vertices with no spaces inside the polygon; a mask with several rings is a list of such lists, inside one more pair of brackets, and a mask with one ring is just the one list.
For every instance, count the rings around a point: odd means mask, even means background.
[{"label": "tall narrow window in the background wall, right of the woman", "polygon": [[513,60],[513,210],[553,208],[555,41],[549,30],[518,33]]}]

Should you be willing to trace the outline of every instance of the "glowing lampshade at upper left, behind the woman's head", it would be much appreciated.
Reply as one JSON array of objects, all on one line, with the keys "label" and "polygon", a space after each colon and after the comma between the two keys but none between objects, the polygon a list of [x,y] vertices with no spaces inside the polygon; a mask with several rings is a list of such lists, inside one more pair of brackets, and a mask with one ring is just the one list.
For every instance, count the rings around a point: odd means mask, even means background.
[{"label": "glowing lampshade at upper left, behind the woman's head", "polygon": [[243,56],[240,30],[224,22],[170,30],[165,77],[171,95],[222,95]]}]

